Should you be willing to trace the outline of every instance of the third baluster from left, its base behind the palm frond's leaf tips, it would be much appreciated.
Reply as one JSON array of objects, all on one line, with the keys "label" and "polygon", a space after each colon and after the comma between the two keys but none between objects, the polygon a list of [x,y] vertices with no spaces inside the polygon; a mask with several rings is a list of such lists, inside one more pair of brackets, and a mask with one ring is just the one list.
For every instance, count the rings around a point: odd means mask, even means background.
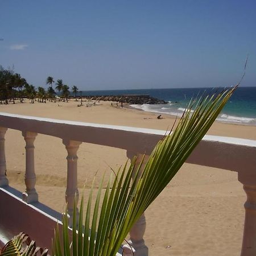
[{"label": "third baluster from left, its base behind the palm frond's leaf tips", "polygon": [[[68,152],[67,189],[65,193],[65,199],[68,206],[69,226],[72,227],[75,196],[76,196],[76,205],[79,200],[79,191],[77,189],[77,159],[78,159],[77,150],[79,149],[81,142],[63,139],[63,144],[65,145]],[[76,220],[78,221],[79,210],[77,208],[76,208],[76,213],[77,213]]]}]

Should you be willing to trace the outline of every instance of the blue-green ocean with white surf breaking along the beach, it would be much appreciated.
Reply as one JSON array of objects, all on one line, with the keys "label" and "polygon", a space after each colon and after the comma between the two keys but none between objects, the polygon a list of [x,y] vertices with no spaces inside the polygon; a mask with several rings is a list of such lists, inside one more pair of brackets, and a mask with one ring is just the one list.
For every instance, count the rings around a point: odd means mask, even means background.
[{"label": "blue-green ocean with white surf breaking along the beach", "polygon": [[[137,90],[90,90],[82,91],[83,96],[148,94],[168,104],[131,105],[147,112],[181,116],[188,102],[197,94],[210,92],[213,88],[171,88]],[[216,90],[216,89],[214,89]],[[256,125],[256,87],[238,87],[217,118],[221,122]]]}]

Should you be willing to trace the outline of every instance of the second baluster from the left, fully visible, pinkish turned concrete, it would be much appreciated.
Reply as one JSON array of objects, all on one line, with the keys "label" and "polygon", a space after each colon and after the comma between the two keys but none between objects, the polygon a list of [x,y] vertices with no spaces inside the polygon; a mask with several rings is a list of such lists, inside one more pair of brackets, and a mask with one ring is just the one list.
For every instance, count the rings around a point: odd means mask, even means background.
[{"label": "second baluster from the left, fully visible, pinkish turned concrete", "polygon": [[38,201],[38,193],[36,193],[36,175],[35,175],[35,161],[34,161],[34,141],[37,133],[30,131],[23,131],[22,136],[26,142],[26,172],[25,172],[25,184],[26,191],[22,194],[22,199],[26,203],[30,204]]}]

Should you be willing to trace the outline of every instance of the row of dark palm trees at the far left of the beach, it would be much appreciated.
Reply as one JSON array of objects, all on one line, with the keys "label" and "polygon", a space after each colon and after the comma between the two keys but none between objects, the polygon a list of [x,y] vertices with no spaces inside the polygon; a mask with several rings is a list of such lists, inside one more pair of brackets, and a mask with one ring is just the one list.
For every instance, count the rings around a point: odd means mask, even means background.
[{"label": "row of dark palm trees at the far left of the beach", "polygon": [[[39,102],[56,101],[55,89],[57,90],[60,100],[67,101],[70,96],[69,86],[63,84],[63,80],[58,79],[56,82],[56,88],[53,89],[52,85],[55,83],[53,77],[48,76],[46,84],[49,87],[44,89],[42,86],[39,86],[38,89],[34,85],[28,84],[27,80],[24,79],[19,73],[14,73],[11,69],[4,69],[0,65],[0,103],[9,104],[19,98],[20,102],[23,102],[23,98],[26,97],[31,100],[31,103],[34,103],[36,99]],[[78,92],[77,86],[72,87],[72,93],[76,97]]]}]

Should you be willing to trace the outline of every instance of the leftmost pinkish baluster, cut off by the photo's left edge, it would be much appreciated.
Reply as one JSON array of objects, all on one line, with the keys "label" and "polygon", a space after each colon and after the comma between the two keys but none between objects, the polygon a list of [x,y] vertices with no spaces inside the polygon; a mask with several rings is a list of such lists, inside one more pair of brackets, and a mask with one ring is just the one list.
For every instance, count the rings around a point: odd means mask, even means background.
[{"label": "leftmost pinkish baluster, cut off by the photo's left edge", "polygon": [[0,127],[0,187],[9,185],[8,179],[5,175],[6,162],[5,162],[5,133],[7,128]]}]

